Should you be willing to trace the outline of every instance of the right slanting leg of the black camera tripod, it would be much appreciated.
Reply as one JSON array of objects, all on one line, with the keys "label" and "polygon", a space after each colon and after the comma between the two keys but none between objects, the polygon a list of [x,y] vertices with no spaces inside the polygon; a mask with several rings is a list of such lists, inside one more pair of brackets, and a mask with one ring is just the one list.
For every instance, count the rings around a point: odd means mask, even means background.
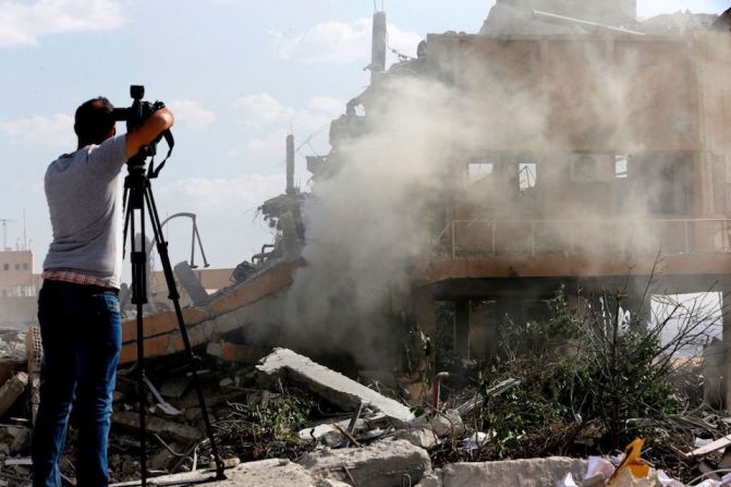
[{"label": "right slanting leg of the black camera tripod", "polygon": [[210,441],[210,450],[214,455],[214,461],[216,462],[216,477],[219,479],[226,478],[223,474],[223,459],[221,458],[218,446],[216,445],[216,438],[214,437],[214,429],[210,425],[210,418],[208,416],[208,409],[206,407],[206,402],[203,397],[203,388],[200,387],[200,380],[198,379],[198,367],[195,364],[195,357],[193,356],[193,350],[191,348],[191,340],[187,336],[187,329],[185,328],[185,320],[183,319],[183,311],[180,307],[180,294],[178,293],[178,287],[175,284],[175,279],[172,273],[172,266],[170,265],[170,256],[168,255],[168,243],[165,241],[162,235],[162,227],[160,224],[160,218],[157,212],[157,207],[155,205],[155,197],[153,196],[153,190],[148,185],[145,191],[145,200],[147,202],[147,207],[149,209],[150,221],[153,223],[153,232],[155,233],[155,242],[157,243],[157,251],[160,255],[160,263],[162,265],[162,270],[165,273],[165,279],[168,284],[168,291],[170,300],[173,303],[175,308],[175,316],[178,317],[178,327],[180,329],[180,334],[183,339],[183,344],[185,345],[185,356],[188,363],[188,369],[191,372],[191,377],[193,378],[193,386],[195,388],[196,394],[198,397],[198,405],[200,406],[200,412],[203,414],[203,421],[206,426],[206,435]]}]

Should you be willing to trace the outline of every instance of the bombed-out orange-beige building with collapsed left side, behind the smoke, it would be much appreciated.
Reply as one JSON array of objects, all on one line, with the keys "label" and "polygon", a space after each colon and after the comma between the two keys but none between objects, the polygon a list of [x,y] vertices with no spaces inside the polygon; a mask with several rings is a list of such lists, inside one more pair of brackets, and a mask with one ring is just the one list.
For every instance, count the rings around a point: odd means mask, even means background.
[{"label": "bombed-out orange-beige building with collapsed left side, behind the smoke", "polygon": [[[374,283],[386,299],[364,321],[413,313],[434,336],[436,304],[444,302],[454,311],[454,351],[485,358],[507,317],[545,314],[546,300],[561,287],[570,299],[588,301],[602,290],[622,290],[626,309],[647,318],[650,277],[658,293],[728,291],[731,101],[724,80],[731,45],[723,19],[686,12],[639,22],[630,0],[503,0],[479,33],[430,34],[416,58],[386,71],[386,15],[377,13],[371,83],[332,121],[330,153],[307,157],[312,195],[294,186],[290,136],[287,191],[259,208],[276,241],[239,266],[235,285],[185,311],[194,344],[226,342],[227,333],[257,326],[277,331],[240,332],[232,340],[264,334],[280,343],[289,333],[294,339],[288,344],[296,343],[296,328],[312,331],[302,325],[308,309],[301,303],[288,312],[297,279],[300,288],[319,293],[302,300],[307,306],[320,297],[330,308],[350,300],[338,296],[346,285],[328,290],[322,279],[303,280],[307,269],[317,276],[308,245],[322,240],[307,205],[328,204],[318,191],[340,183],[353,147],[367,144],[380,154],[368,137],[389,124],[383,100],[400,80],[446,87],[449,102],[461,110],[454,123],[467,131],[468,122],[471,136],[444,138],[453,147],[430,173],[439,185],[417,216],[418,255],[397,263],[407,269],[405,280]],[[357,219],[352,215],[354,224]],[[348,230],[339,235],[332,226],[337,243]],[[337,257],[331,248],[325,254]],[[319,272],[332,278],[336,270]],[[340,273],[366,279],[346,264]],[[348,319],[363,322],[357,306],[351,311]],[[153,356],[182,346],[167,315],[149,318],[146,350]],[[289,331],[279,327],[288,320]],[[123,363],[134,360],[133,322],[125,327]]]}]

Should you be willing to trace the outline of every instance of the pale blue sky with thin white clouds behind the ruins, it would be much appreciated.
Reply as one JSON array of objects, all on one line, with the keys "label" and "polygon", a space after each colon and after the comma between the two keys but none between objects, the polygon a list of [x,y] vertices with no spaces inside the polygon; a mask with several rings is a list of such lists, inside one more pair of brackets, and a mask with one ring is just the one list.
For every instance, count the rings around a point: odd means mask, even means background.
[{"label": "pale blue sky with thin white clouds behind the ruins", "polygon": [[[492,3],[386,0],[389,46],[415,56],[427,33],[476,33]],[[641,17],[729,7],[637,0]],[[0,0],[8,247],[27,245],[41,270],[51,239],[44,173],[75,149],[74,110],[100,95],[129,106],[129,86],[142,84],[176,120],[172,158],[153,182],[160,217],[195,214],[211,267],[249,259],[272,240],[256,209],[284,190],[287,134],[306,188],[305,156],[327,154],[329,121],[368,84],[373,12],[370,0]],[[190,259],[190,220],[172,220],[166,234],[172,263]]]}]

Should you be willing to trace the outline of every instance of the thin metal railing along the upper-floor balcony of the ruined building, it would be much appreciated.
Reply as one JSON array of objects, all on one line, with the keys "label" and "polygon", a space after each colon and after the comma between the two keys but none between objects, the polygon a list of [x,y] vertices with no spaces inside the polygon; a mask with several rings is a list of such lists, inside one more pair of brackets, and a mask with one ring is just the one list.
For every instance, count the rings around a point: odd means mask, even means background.
[{"label": "thin metal railing along the upper-floor balcony of the ruined building", "polygon": [[452,258],[731,252],[731,220],[454,220],[438,238]]}]

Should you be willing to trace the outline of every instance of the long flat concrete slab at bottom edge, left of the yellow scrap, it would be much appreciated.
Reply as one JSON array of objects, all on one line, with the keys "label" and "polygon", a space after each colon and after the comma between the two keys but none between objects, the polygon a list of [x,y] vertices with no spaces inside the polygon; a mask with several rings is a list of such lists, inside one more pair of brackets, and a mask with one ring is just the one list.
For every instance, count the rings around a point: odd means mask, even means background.
[{"label": "long flat concrete slab at bottom edge, left of the yellow scrap", "polygon": [[452,463],[444,465],[443,487],[513,486],[543,487],[557,483],[571,473],[583,478],[587,461],[549,456],[546,459],[505,460],[502,462]]}]

